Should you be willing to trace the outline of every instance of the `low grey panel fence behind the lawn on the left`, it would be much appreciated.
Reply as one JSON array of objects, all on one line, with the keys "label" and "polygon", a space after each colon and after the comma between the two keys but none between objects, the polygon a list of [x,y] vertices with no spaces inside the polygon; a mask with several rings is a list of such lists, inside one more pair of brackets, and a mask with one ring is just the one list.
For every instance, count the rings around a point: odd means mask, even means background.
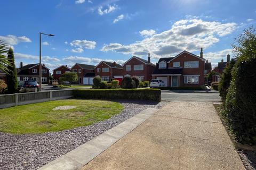
[{"label": "low grey panel fence behind the lawn on the left", "polygon": [[0,108],[60,100],[73,97],[73,90],[51,90],[23,94],[0,95]]}]

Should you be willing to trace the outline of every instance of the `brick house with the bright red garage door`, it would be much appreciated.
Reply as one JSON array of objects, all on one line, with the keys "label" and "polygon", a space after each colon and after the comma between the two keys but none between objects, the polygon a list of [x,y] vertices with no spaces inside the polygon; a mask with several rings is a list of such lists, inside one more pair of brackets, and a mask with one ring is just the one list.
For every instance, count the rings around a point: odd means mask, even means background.
[{"label": "brick house with the bright red garage door", "polygon": [[99,75],[103,81],[123,80],[123,66],[116,62],[101,61],[94,67],[95,75]]}]

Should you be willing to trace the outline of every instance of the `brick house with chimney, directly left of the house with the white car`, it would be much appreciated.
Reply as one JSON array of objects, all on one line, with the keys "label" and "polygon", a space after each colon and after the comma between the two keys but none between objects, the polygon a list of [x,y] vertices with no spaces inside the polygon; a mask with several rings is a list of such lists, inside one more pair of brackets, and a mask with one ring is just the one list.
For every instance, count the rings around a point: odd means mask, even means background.
[{"label": "brick house with chimney, directly left of the house with the white car", "polygon": [[123,64],[123,77],[136,76],[140,81],[150,81],[152,73],[156,65],[150,62],[150,54],[148,60],[133,56]]}]

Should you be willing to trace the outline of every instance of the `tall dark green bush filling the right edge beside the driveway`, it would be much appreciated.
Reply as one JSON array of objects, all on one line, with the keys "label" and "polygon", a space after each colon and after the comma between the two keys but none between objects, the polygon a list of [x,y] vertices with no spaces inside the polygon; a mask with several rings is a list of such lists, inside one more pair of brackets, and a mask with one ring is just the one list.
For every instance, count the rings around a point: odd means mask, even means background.
[{"label": "tall dark green bush filling the right edge beside the driveway", "polygon": [[246,29],[233,45],[238,59],[225,102],[225,114],[236,139],[256,143],[256,30]]}]

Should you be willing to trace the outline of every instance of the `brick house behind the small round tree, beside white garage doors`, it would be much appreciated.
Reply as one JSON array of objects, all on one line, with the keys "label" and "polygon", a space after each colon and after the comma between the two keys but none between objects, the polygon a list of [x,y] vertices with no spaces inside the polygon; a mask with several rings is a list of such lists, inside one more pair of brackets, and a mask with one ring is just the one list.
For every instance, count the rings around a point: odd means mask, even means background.
[{"label": "brick house behind the small round tree, beside white garage doors", "polygon": [[88,64],[81,64],[81,63],[76,63],[73,65],[70,69],[71,72],[77,73],[78,75],[78,84],[83,84],[84,81],[84,75],[85,73],[94,73],[94,67],[95,65],[88,65]]}]

